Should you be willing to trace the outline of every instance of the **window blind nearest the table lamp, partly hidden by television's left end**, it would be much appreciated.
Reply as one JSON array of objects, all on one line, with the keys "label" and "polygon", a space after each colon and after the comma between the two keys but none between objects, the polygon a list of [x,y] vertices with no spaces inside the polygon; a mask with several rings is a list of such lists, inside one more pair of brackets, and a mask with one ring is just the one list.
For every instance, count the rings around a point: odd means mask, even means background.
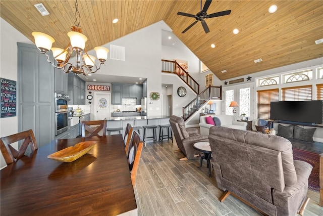
[{"label": "window blind nearest the table lamp, partly hidden by television's left end", "polygon": [[261,90],[257,91],[257,118],[271,118],[271,102],[279,100],[279,90]]}]

